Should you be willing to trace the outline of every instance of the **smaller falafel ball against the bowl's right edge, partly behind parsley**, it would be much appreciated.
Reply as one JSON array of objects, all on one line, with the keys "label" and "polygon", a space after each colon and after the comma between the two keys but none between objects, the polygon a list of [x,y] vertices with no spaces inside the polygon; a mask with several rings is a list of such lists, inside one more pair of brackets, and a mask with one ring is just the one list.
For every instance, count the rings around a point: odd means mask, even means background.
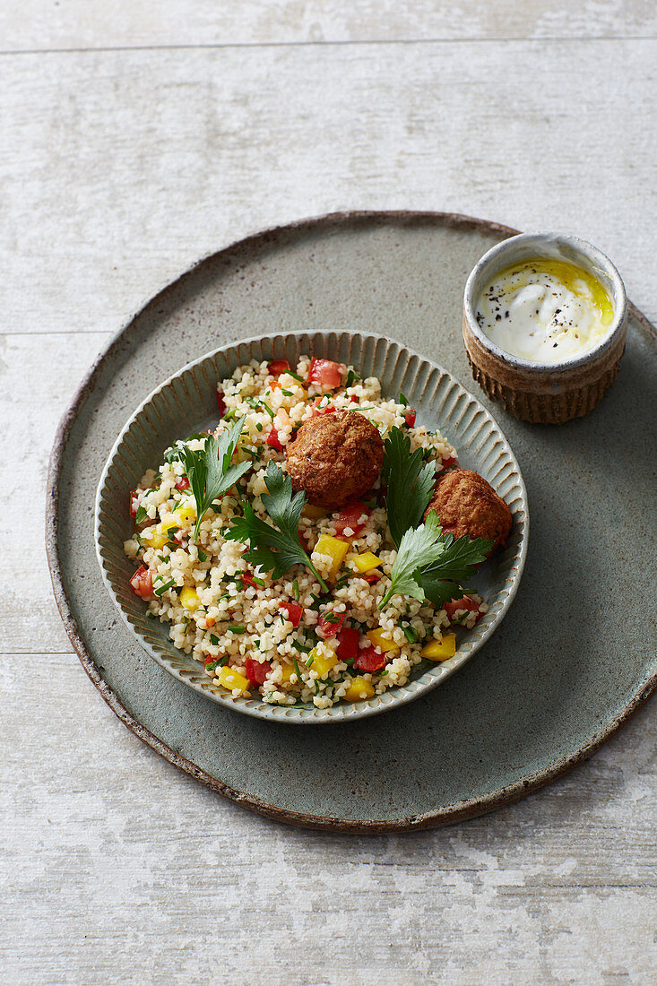
[{"label": "smaller falafel ball against the bowl's right edge, partly behind parsley", "polygon": [[485,537],[494,542],[491,552],[506,542],[511,530],[511,511],[490,483],[471,469],[451,469],[438,476],[425,520],[431,510],[445,533]]}]

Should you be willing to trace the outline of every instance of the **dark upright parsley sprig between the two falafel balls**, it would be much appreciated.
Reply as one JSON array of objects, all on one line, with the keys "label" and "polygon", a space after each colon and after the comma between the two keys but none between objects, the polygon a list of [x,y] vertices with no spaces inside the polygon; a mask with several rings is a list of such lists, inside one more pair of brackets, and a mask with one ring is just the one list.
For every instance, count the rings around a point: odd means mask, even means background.
[{"label": "dark upright parsley sprig between the two falafel balls", "polygon": [[391,537],[397,548],[407,530],[422,521],[433,493],[435,462],[424,462],[422,449],[410,453],[410,439],[401,428],[391,428],[384,442],[382,476],[386,482],[386,510]]}]

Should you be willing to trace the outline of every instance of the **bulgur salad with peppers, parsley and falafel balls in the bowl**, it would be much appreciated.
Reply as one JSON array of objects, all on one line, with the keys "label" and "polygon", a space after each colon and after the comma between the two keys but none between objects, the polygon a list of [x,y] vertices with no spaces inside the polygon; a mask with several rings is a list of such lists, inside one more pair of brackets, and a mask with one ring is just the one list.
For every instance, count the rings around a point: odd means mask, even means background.
[{"label": "bulgur salad with peppers, parsley and falafel balls in the bowl", "polygon": [[130,494],[131,586],[174,646],[227,696],[320,709],[452,657],[487,609],[464,587],[511,527],[486,481],[331,360],[252,361],[217,401],[214,431]]}]

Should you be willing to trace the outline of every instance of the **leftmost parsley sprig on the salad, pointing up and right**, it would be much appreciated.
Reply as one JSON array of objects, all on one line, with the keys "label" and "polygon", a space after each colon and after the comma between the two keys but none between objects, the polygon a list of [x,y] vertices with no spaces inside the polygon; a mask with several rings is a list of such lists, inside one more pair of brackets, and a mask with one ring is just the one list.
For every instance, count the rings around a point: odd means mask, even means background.
[{"label": "leftmost parsley sprig on the salad, pointing up and right", "polygon": [[235,422],[230,431],[223,431],[216,439],[214,435],[206,438],[203,448],[197,452],[188,446],[180,444],[178,454],[183,462],[184,471],[191,492],[196,501],[196,524],[192,540],[198,537],[201,521],[205,512],[215,500],[228,493],[245,472],[251,468],[251,461],[233,464],[231,458],[237,448],[242,434],[244,418]]}]

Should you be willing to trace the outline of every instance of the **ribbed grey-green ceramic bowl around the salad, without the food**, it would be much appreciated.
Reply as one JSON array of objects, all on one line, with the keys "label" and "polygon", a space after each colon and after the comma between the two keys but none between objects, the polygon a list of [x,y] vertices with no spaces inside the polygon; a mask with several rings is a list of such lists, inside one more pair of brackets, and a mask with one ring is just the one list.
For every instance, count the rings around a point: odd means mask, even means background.
[{"label": "ribbed grey-green ceramic bowl around the salad, without the food", "polygon": [[[158,466],[165,449],[177,438],[216,425],[217,382],[252,359],[288,359],[294,364],[302,353],[350,363],[363,376],[378,377],[385,395],[397,396],[402,391],[416,407],[418,422],[440,428],[456,447],[460,463],[480,472],[513,514],[506,549],[482,566],[472,583],[490,608],[474,630],[465,632],[456,655],[442,664],[419,665],[407,684],[383,695],[329,709],[266,705],[259,696],[234,699],[214,685],[200,664],[174,648],[168,628],[147,618],[145,602],[130,590],[134,565],[123,553],[123,541],[132,533],[127,509],[130,490],[147,468]],[[154,390],[127,422],[111,450],[96,502],[96,546],[103,579],[125,623],[153,660],[214,702],[250,716],[298,725],[344,722],[394,709],[461,668],[490,637],[516,595],[528,529],[527,494],[518,463],[488,412],[445,370],[398,342],[359,332],[260,336],[189,363]]]}]

